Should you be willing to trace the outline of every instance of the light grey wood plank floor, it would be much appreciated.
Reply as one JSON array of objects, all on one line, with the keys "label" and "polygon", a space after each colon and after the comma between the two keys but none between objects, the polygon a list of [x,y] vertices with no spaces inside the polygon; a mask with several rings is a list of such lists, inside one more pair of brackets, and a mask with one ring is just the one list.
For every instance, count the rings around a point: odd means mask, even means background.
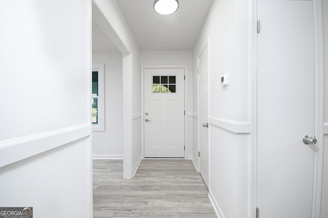
[{"label": "light grey wood plank floor", "polygon": [[93,161],[93,214],[111,217],[217,217],[190,160],[142,160],[131,180],[122,160]]}]

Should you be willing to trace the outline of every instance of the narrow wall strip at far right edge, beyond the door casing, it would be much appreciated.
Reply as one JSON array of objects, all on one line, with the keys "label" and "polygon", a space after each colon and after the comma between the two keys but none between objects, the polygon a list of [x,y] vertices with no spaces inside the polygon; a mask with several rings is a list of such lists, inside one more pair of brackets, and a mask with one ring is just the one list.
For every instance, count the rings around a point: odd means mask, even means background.
[{"label": "narrow wall strip at far right edge, beyond the door casing", "polygon": [[323,144],[323,183],[321,218],[328,217],[328,1],[322,0],[323,7],[323,43],[324,43],[324,123]]}]

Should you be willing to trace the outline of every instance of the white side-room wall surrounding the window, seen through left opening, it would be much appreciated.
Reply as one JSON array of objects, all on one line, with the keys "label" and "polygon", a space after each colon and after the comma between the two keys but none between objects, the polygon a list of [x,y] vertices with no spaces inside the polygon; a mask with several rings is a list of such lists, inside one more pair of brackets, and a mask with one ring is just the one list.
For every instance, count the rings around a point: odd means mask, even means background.
[{"label": "white side-room wall surrounding the window, seen through left opening", "polygon": [[105,64],[105,131],[93,132],[93,158],[123,159],[122,54],[93,51],[92,62]]}]

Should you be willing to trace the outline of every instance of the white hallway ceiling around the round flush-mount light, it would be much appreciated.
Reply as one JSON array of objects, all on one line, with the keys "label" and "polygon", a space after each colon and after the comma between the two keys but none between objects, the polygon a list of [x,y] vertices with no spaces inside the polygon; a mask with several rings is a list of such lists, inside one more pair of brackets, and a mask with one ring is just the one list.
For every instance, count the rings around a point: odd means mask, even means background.
[{"label": "white hallway ceiling around the round flush-mount light", "polygon": [[154,11],[155,0],[117,0],[141,50],[192,50],[213,0],[179,0],[171,15]]}]

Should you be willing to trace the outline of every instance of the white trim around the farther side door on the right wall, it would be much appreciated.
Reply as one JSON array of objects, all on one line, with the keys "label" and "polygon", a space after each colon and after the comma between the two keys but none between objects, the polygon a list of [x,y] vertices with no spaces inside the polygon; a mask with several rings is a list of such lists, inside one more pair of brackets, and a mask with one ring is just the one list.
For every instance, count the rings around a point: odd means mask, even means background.
[{"label": "white trim around the farther side door on the right wall", "polygon": [[[207,57],[208,57],[208,93],[209,93],[209,96],[208,96],[208,110],[209,110],[209,118],[210,118],[210,105],[211,105],[211,101],[210,101],[210,95],[211,95],[211,93],[210,93],[210,38],[208,38],[207,39],[207,41],[206,41],[206,43],[205,43],[205,45],[203,45],[201,48],[201,50],[200,50],[200,52],[199,52],[199,55],[197,55],[197,114],[198,114],[198,119],[197,119],[197,154],[198,154],[198,152],[200,151],[200,141],[199,141],[199,125],[200,125],[200,121],[199,121],[199,58],[200,58],[200,56],[201,56],[201,54],[203,53],[203,51],[206,49],[206,47],[207,47]],[[211,154],[211,152],[210,152],[210,150],[211,150],[211,148],[210,148],[210,138],[211,138],[211,131],[210,131],[210,126],[209,126],[209,135],[208,135],[208,137],[209,137],[209,140],[208,140],[208,143],[209,143],[209,187],[208,187],[208,189],[210,190],[210,187],[211,187],[211,165],[210,165],[210,163],[211,163],[211,156],[210,156],[210,154]],[[200,172],[200,161],[199,161],[199,156],[198,156],[198,159],[197,159],[197,161],[198,161],[198,172]]]}]

